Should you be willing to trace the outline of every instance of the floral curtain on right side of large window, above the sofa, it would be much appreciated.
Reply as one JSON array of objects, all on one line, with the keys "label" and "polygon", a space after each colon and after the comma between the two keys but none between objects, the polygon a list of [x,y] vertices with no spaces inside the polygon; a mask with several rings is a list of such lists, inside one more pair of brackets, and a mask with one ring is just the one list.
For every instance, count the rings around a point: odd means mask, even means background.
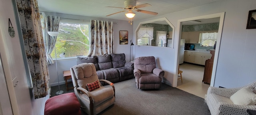
[{"label": "floral curtain on right side of large window, above the sofa", "polygon": [[113,54],[113,22],[91,20],[91,41],[88,56]]}]

